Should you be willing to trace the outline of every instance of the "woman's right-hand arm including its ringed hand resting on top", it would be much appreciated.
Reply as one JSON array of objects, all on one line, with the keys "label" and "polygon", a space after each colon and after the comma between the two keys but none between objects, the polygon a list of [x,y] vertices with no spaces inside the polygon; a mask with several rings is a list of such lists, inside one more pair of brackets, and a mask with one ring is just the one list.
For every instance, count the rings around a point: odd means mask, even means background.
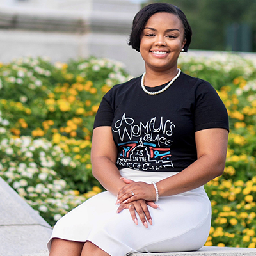
[{"label": "woman's right-hand arm including its ringed hand resting on top", "polygon": [[[198,188],[223,173],[227,154],[228,131],[226,129],[205,129],[195,133],[198,159],[172,177],[157,182],[159,196],[177,195]],[[131,197],[129,191],[135,193]],[[124,186],[119,194],[119,202],[133,200],[155,200],[154,186],[144,182],[134,182]]]}]

